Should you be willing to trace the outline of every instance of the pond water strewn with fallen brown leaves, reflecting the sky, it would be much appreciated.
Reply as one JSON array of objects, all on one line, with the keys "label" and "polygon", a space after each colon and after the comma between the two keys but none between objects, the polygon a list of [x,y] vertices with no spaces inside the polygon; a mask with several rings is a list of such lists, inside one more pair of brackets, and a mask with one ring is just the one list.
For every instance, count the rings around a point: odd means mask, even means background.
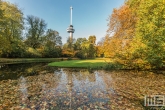
[{"label": "pond water strewn with fallen brown leaves, reflecting the sky", "polygon": [[5,110],[143,110],[144,96],[155,94],[165,95],[163,74],[0,65],[0,109]]}]

